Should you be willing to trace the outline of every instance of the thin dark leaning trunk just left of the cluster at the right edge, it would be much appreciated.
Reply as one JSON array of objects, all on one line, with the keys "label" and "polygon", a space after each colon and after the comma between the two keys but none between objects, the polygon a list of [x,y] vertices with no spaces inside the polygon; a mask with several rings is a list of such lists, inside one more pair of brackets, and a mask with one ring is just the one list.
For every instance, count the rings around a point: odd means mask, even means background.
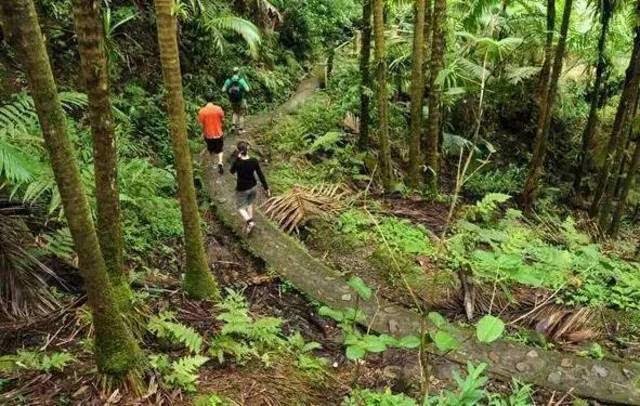
[{"label": "thin dark leaning trunk just left of the cluster at the right edge", "polygon": [[[608,0],[605,1],[608,3]],[[596,77],[593,82],[593,89],[591,94],[591,106],[589,107],[589,118],[587,119],[587,125],[582,133],[582,148],[580,150],[580,156],[578,166],[576,167],[575,179],[573,181],[573,190],[577,196],[581,195],[582,189],[582,176],[587,167],[587,155],[589,154],[589,148],[591,147],[591,141],[598,125],[598,107],[600,102],[600,93],[602,92],[602,80],[604,77],[604,69],[606,61],[604,58],[604,50],[607,42],[607,32],[609,30],[609,22],[611,21],[611,12],[605,6],[602,10],[602,27],[600,29],[600,37],[598,38],[598,63],[596,65]]]}]

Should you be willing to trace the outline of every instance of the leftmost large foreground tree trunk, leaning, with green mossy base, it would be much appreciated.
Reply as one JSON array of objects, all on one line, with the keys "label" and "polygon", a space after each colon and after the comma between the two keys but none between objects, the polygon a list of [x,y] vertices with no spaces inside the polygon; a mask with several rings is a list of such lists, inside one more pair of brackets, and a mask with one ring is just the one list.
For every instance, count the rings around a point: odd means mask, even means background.
[{"label": "leftmost large foreground tree trunk, leaning, with green mossy base", "polygon": [[122,317],[100,251],[74,150],[66,135],[66,120],[49,64],[38,17],[31,0],[0,3],[4,25],[12,31],[23,62],[65,217],[79,260],[95,328],[98,369],[123,376],[140,368],[142,352]]}]

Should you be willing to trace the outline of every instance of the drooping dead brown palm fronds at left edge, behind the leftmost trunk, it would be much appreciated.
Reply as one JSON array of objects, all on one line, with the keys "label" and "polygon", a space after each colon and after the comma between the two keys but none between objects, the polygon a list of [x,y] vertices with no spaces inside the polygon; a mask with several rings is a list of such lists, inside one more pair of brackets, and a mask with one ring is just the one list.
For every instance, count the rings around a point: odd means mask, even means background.
[{"label": "drooping dead brown palm fronds at left edge, behind the leftmost trunk", "polygon": [[48,290],[48,280],[58,278],[30,247],[34,241],[24,222],[0,214],[0,312],[12,320],[46,315],[59,307]]}]

